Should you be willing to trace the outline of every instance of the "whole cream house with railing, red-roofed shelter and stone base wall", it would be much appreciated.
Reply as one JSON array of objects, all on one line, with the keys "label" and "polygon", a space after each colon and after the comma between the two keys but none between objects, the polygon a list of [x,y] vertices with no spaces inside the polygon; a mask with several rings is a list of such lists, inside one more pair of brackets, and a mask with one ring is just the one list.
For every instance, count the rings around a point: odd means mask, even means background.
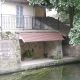
[{"label": "whole cream house with railing, red-roofed shelter and stone base wall", "polygon": [[[19,69],[21,61],[30,57],[63,57],[63,37],[53,29],[55,22],[45,16],[45,8],[30,6],[26,0],[0,0],[0,3],[0,70],[3,73]],[[30,56],[25,55],[23,59],[26,51]]]}]

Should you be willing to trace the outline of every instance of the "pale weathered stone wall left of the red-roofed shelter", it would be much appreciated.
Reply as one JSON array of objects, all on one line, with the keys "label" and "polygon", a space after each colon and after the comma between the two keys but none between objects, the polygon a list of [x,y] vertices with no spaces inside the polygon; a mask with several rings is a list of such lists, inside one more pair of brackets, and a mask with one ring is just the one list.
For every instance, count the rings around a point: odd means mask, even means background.
[{"label": "pale weathered stone wall left of the red-roofed shelter", "polygon": [[18,34],[2,33],[0,40],[0,72],[5,73],[20,68],[21,54]]}]

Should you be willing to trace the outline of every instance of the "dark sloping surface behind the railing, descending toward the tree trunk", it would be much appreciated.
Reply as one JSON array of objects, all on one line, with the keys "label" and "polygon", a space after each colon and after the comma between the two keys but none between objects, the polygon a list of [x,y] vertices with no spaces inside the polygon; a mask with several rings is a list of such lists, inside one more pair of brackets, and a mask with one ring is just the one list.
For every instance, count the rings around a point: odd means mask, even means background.
[{"label": "dark sloping surface behind the railing, descending toward the tree trunk", "polygon": [[58,30],[60,33],[62,33],[62,35],[68,36],[70,26],[66,25],[63,22],[60,22],[59,19],[55,19],[52,17],[36,17],[36,19],[40,21],[41,24],[45,24],[54,30]]}]

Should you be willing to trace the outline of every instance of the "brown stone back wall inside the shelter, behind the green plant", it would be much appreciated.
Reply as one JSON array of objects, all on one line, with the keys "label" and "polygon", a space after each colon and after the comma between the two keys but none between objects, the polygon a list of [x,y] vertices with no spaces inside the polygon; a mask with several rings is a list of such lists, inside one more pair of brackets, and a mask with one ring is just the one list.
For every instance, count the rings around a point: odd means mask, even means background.
[{"label": "brown stone back wall inside the shelter, behind the green plant", "polygon": [[32,56],[33,59],[37,58],[43,58],[44,54],[44,42],[30,42],[30,43],[24,43],[22,40],[20,40],[20,46],[21,46],[21,53],[24,54],[26,50],[32,50],[34,49],[34,55]]}]

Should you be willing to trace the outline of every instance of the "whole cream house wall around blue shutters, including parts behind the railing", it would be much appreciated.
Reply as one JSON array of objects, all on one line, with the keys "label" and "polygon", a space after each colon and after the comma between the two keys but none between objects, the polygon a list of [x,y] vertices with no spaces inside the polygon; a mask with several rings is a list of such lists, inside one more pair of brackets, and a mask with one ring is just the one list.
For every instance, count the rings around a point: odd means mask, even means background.
[{"label": "whole cream house wall around blue shutters, including parts behind the railing", "polygon": [[[1,1],[1,0],[0,0]],[[16,18],[12,15],[16,15],[16,5],[21,5],[23,6],[23,15],[24,16],[35,16],[35,8],[33,6],[30,6],[28,4],[20,4],[20,3],[11,3],[11,2],[4,2],[2,4],[2,11],[0,11],[3,15],[9,15],[10,17],[13,17],[13,21],[14,24],[12,25],[12,23],[9,21],[9,24],[3,24],[3,30],[4,30],[4,26],[7,26],[7,28],[5,30],[21,30],[21,28],[16,28]],[[12,19],[12,18],[11,18]],[[26,24],[25,22],[28,22],[29,24]],[[31,18],[27,18],[27,20],[25,21],[24,25],[26,26],[26,29],[32,29],[32,19]],[[1,23],[1,20],[0,20]],[[11,25],[11,26],[10,26]],[[13,28],[12,28],[13,27]],[[22,28],[23,29],[23,28]]]}]

